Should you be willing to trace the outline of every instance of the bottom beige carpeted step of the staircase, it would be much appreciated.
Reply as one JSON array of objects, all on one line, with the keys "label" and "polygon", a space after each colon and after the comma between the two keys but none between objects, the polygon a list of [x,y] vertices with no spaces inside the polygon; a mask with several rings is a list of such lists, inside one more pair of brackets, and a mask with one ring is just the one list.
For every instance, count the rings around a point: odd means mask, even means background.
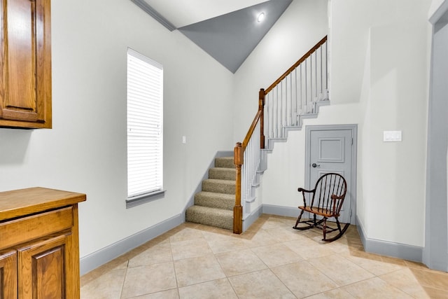
[{"label": "bottom beige carpeted step of the staircase", "polygon": [[187,209],[186,221],[232,230],[233,211],[195,205]]}]

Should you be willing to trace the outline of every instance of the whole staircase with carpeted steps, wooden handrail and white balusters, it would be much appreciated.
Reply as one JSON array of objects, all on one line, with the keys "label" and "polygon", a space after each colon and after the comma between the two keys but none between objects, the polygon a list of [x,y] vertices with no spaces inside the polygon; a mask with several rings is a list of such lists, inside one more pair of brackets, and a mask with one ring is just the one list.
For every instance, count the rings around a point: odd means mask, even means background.
[{"label": "whole staircase with carpeted steps, wooden handrail and white balusters", "polygon": [[236,234],[255,221],[260,212],[255,188],[267,169],[267,153],[276,142],[286,141],[288,132],[301,130],[304,119],[316,118],[319,108],[330,104],[327,36],[258,95],[258,111],[246,137],[237,142],[232,157],[216,158],[193,207],[186,210],[186,221]]}]

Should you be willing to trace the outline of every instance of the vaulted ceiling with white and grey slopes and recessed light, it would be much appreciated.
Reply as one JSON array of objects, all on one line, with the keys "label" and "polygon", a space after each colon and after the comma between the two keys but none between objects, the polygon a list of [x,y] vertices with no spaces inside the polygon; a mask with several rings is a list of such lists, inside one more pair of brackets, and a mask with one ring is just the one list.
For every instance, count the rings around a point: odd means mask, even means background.
[{"label": "vaulted ceiling with white and grey slopes and recessed light", "polygon": [[[292,0],[131,0],[235,73]],[[258,22],[260,13],[265,19]]]}]

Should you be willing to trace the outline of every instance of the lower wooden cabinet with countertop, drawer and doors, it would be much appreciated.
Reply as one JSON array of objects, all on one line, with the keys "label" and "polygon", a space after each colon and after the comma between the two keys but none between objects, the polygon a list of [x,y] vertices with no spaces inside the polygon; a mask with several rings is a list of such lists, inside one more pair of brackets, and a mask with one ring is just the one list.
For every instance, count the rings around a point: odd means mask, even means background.
[{"label": "lower wooden cabinet with countertop, drawer and doors", "polygon": [[0,193],[0,298],[80,298],[78,202],[46,188]]}]

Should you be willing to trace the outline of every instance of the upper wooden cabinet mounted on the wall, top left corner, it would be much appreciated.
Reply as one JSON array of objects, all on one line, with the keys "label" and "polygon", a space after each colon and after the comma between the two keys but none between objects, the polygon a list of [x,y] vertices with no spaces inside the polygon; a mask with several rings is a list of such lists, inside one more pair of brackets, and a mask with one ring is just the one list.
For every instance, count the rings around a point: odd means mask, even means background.
[{"label": "upper wooden cabinet mounted on the wall, top left corner", "polygon": [[51,128],[50,0],[0,0],[0,127]]}]

